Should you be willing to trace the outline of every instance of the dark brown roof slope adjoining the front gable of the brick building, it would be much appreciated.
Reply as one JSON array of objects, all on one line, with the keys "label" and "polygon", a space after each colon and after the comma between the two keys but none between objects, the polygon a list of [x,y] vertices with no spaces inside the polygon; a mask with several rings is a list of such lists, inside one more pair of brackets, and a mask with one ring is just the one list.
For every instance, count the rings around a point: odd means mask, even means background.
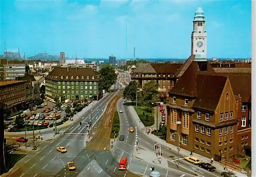
[{"label": "dark brown roof slope adjoining the front gable of the brick building", "polygon": [[197,75],[198,96],[192,107],[215,111],[226,81],[225,76]]}]

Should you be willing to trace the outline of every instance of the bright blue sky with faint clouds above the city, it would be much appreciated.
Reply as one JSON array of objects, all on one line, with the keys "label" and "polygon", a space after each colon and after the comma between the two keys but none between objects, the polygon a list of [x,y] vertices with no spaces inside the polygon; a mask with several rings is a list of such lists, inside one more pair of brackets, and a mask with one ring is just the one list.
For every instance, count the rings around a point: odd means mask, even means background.
[{"label": "bright blue sky with faint clouds above the city", "polygon": [[[198,7],[207,58],[251,57],[251,1],[0,1],[0,54],[6,49],[78,58],[188,58]],[[127,30],[126,30],[127,29]],[[126,33],[127,31],[127,33]],[[127,38],[127,39],[126,39]],[[127,41],[127,48],[126,48]]]}]

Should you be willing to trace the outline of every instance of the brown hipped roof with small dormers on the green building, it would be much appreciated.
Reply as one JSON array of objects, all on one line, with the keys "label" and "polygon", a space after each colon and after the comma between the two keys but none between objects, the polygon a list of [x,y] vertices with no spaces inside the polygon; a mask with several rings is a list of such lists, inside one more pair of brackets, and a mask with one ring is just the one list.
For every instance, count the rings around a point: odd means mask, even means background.
[{"label": "brown hipped roof with small dormers on the green building", "polygon": [[[73,77],[73,79],[72,79]],[[93,79],[94,77],[94,79]],[[98,80],[97,75],[92,68],[63,68],[55,67],[51,73],[46,77],[54,80],[74,80],[74,81],[86,81],[86,80]]]}]

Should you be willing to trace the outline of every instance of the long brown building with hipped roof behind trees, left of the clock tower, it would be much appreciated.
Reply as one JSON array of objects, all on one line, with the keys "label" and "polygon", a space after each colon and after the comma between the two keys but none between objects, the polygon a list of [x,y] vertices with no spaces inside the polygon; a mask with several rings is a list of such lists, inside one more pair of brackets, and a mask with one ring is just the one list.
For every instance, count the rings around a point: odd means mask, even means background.
[{"label": "long brown building with hipped roof behind trees, left of the clock tower", "polygon": [[174,86],[176,82],[174,74],[181,66],[182,64],[176,63],[141,63],[132,72],[131,79],[138,83],[140,89],[143,89],[147,82],[155,80],[158,83],[160,96],[165,98]]}]

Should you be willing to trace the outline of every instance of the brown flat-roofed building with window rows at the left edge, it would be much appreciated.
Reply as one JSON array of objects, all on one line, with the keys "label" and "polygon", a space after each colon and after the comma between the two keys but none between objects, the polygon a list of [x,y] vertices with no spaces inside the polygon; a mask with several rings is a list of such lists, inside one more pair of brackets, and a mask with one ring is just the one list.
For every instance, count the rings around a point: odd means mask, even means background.
[{"label": "brown flat-roofed building with window rows at the left edge", "polygon": [[26,102],[26,81],[0,82],[0,100],[12,113],[22,110]]}]

